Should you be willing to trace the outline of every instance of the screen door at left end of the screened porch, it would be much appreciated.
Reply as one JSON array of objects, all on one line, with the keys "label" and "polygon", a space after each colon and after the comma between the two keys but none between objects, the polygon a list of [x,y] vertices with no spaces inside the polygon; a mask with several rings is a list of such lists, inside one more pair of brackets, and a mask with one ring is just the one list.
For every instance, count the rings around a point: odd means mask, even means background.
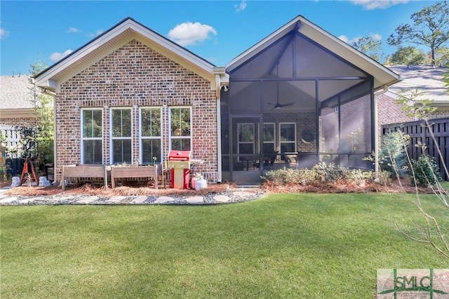
[{"label": "screen door at left end of the screened porch", "polygon": [[261,118],[259,116],[232,117],[231,180],[259,183],[262,175]]}]

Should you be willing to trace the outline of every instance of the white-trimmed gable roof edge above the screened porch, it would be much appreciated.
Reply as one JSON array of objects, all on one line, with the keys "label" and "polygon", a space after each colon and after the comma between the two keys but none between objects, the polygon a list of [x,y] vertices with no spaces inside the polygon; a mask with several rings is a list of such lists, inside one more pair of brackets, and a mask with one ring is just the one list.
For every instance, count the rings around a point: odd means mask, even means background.
[{"label": "white-trimmed gable roof edge above the screened porch", "polygon": [[[321,27],[314,25],[314,23],[302,17],[302,15],[298,15],[286,25],[283,25],[283,27],[277,29],[275,32],[262,39],[262,41],[227,63],[227,65],[225,65],[227,72],[232,73],[234,69],[238,69],[241,65],[255,58],[255,56],[267,51],[268,48],[281,41],[281,39],[288,41],[288,39],[285,39],[284,37],[291,33],[301,34],[306,39],[319,44],[326,51],[335,54],[342,60],[346,60],[351,63],[351,65],[366,72],[366,74],[373,76],[375,90],[401,81],[401,77],[398,74],[395,74],[379,62],[376,62],[367,55],[349,46],[344,41],[326,32],[324,29],[321,29]],[[277,47],[282,48],[282,45],[278,45]],[[264,65],[267,67],[267,70],[263,71],[264,74],[270,73],[269,68],[272,68],[272,65],[276,65],[274,60],[279,60],[279,57],[272,57],[272,60],[273,61],[264,60],[264,62],[266,62]],[[262,73],[262,71],[260,73]]]}]

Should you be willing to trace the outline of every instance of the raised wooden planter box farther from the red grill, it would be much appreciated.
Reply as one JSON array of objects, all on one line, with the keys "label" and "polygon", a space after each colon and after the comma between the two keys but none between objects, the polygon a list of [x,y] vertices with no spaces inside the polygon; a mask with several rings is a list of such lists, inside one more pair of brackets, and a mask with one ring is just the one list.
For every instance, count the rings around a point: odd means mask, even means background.
[{"label": "raised wooden planter box farther from the red grill", "polygon": [[103,178],[107,189],[107,177],[111,166],[100,164],[74,164],[62,166],[62,191],[65,191],[66,178]]}]

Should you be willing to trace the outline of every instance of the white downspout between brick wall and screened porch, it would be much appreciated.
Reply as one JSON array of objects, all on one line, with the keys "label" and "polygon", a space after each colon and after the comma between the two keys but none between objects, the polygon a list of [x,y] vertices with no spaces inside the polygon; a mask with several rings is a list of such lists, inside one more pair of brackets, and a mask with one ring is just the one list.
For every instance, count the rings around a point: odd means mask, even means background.
[{"label": "white downspout between brick wall and screened porch", "polygon": [[222,182],[222,122],[221,122],[221,90],[222,86],[229,85],[229,75],[225,72],[225,67],[214,67],[213,73],[215,74],[215,96],[216,109],[217,109],[217,182]]}]

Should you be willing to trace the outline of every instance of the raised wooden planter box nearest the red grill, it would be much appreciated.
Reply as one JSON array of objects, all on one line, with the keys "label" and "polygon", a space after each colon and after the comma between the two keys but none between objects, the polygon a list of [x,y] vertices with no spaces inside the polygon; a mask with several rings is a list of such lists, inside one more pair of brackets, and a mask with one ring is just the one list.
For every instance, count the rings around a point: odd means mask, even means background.
[{"label": "raised wooden planter box nearest the red grill", "polygon": [[158,176],[162,174],[162,165],[146,166],[112,166],[111,185],[114,188],[119,178],[153,178],[154,186],[158,189]]}]

